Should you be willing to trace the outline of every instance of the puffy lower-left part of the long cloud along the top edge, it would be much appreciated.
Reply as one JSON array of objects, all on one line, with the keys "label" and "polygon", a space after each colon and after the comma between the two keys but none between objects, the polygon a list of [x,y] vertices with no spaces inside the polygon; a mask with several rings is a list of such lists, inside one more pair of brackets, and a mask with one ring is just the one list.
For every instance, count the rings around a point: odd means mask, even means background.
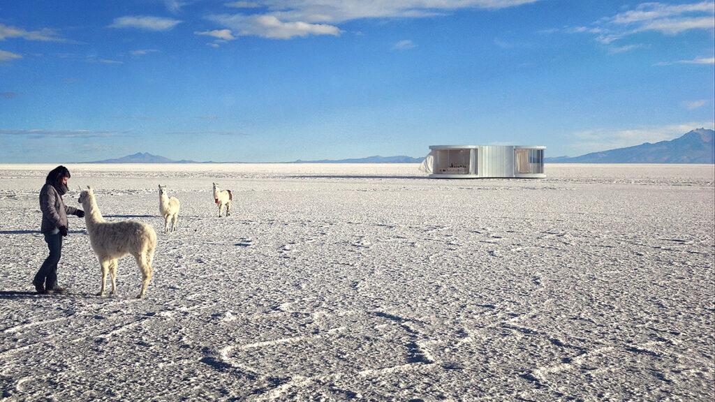
[{"label": "puffy lower-left part of the long cloud along the top edge", "polygon": [[295,36],[340,35],[337,26],[328,24],[308,24],[302,21],[284,22],[272,15],[219,15],[212,19],[230,26],[240,36],[261,36],[269,39],[291,39]]}]

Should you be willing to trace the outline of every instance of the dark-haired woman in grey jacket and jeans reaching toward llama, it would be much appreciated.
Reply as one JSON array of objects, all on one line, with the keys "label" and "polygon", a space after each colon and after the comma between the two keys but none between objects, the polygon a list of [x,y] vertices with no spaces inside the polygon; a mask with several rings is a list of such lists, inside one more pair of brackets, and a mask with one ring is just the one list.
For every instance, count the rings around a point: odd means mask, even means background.
[{"label": "dark-haired woman in grey jacket and jeans reaching toward llama", "polygon": [[64,166],[55,167],[47,175],[45,185],[40,190],[40,210],[42,210],[42,226],[49,248],[49,256],[37,271],[32,284],[37,293],[66,293],[57,283],[57,263],[62,254],[62,237],[67,235],[67,215],[84,217],[84,211],[64,205],[62,195],[67,192],[69,170]]}]

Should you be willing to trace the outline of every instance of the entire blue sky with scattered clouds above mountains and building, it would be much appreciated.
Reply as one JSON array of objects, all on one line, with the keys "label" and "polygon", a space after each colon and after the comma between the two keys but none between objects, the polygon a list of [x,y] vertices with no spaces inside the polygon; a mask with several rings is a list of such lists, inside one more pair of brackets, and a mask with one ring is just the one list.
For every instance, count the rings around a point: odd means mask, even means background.
[{"label": "entire blue sky with scattered clouds above mountains and building", "polygon": [[0,162],[581,155],[713,128],[715,3],[0,0]]}]

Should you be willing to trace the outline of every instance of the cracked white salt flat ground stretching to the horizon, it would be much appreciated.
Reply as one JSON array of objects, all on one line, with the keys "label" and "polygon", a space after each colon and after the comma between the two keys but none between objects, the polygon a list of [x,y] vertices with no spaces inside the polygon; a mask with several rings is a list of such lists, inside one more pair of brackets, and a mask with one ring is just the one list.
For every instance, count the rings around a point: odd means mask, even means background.
[{"label": "cracked white salt flat ground stretching to the horizon", "polygon": [[[157,230],[155,278],[99,264],[71,217],[46,256],[51,167],[0,165],[2,400],[684,400],[715,397],[714,167],[69,165],[107,220]],[[217,217],[211,183],[234,191]],[[182,201],[161,232],[157,185]]]}]

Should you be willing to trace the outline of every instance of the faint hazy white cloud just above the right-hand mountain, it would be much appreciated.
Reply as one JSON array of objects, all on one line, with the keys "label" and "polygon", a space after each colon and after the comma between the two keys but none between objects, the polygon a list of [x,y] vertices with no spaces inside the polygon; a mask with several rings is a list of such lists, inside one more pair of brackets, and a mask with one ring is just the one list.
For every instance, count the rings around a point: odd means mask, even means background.
[{"label": "faint hazy white cloud just above the right-hand mountain", "polygon": [[633,147],[644,142],[668,141],[700,127],[715,129],[715,122],[689,122],[634,129],[596,129],[575,132],[573,137],[576,141],[568,145],[569,155]]}]

